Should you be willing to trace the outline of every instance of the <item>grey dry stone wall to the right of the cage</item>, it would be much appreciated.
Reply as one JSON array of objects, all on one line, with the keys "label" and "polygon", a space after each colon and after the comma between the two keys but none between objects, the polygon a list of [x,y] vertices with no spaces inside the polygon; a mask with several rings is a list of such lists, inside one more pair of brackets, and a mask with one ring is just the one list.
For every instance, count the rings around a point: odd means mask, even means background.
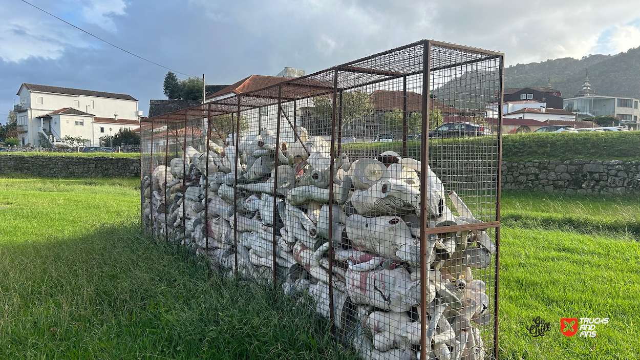
[{"label": "grey dry stone wall to the right of the cage", "polygon": [[502,188],[554,194],[640,192],[640,160],[539,160],[502,163]]}]

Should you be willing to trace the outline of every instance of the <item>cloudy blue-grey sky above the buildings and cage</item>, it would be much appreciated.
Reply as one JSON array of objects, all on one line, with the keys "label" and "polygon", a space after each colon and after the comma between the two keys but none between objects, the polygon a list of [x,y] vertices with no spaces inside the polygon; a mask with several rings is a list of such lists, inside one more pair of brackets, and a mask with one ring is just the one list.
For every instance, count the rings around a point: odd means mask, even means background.
[{"label": "cloudy blue-grey sky above the buildings and cage", "polygon": [[[28,1],[209,85],[285,66],[309,74],[423,38],[501,51],[507,65],[640,45],[640,7],[628,0]],[[0,13],[3,122],[21,83],[129,94],[144,115],[165,98],[166,69],[20,0],[0,0]]]}]

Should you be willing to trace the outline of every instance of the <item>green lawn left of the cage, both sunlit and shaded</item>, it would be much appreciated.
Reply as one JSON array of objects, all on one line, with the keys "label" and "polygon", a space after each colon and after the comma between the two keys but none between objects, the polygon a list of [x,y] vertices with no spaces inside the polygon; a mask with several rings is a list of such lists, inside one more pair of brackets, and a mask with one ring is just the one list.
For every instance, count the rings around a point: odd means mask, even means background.
[{"label": "green lawn left of the cage, both sunlit and shaded", "polygon": [[271,286],[141,236],[138,184],[0,179],[0,359],[355,359]]}]

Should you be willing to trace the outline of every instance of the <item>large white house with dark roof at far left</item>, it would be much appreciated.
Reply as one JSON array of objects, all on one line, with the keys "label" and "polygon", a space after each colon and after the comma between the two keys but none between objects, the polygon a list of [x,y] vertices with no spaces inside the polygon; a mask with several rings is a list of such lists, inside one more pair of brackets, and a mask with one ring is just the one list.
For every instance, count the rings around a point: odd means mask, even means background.
[{"label": "large white house with dark roof at far left", "polygon": [[131,95],[27,83],[17,95],[20,104],[14,110],[23,145],[49,145],[65,136],[99,145],[101,136],[140,126],[142,111]]}]

